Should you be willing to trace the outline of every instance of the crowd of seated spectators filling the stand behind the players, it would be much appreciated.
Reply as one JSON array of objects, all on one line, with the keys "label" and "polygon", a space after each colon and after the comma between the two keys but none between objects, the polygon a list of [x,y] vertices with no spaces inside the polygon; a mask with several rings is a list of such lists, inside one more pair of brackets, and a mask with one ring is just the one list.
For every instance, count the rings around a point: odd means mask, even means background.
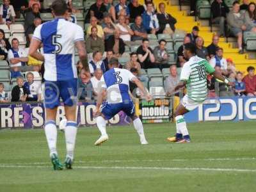
[{"label": "crowd of seated spectators filling the stand behind the players", "polygon": [[[45,0],[46,1],[46,0]],[[36,26],[42,24],[41,13],[51,12],[49,7],[42,6],[43,1],[30,0],[4,0],[0,6],[0,22],[10,27],[15,23],[15,18],[24,15],[24,29],[26,40],[29,42],[33,36]],[[72,7],[72,1],[67,1],[69,14],[67,20],[76,22],[73,12],[79,12]],[[246,10],[239,12],[239,10]],[[229,12],[227,5],[221,0],[215,0],[212,3],[212,12],[214,22],[220,24],[220,36],[224,33],[225,20],[230,26],[230,31],[237,36],[239,52],[241,49],[242,31],[256,31],[255,4],[244,1],[240,6],[235,1],[232,11]],[[78,86],[83,88],[80,99],[92,100],[99,92],[97,85],[100,78],[108,67],[108,62],[113,57],[129,57],[125,65],[120,68],[130,70],[144,84],[148,84],[148,76],[142,73],[142,70],[148,68],[170,68],[170,75],[165,78],[164,90],[167,96],[177,95],[174,92],[175,85],[179,82],[179,68],[184,65],[186,58],[183,56],[184,46],[180,45],[177,50],[177,62],[174,65],[169,63],[169,55],[166,49],[166,40],[160,39],[152,49],[150,47],[149,34],[168,34],[175,33],[175,23],[177,20],[169,13],[166,13],[166,5],[160,3],[158,7],[152,0],[145,0],[145,4],[139,4],[138,0],[132,0],[127,3],[126,0],[120,0],[118,4],[113,5],[112,0],[96,0],[90,6],[85,22],[86,27],[86,51],[88,52],[88,65],[91,76],[88,76],[81,65],[77,62],[77,72],[79,74]],[[204,46],[204,38],[199,36],[198,26],[193,27],[191,33],[184,37],[184,44],[192,42],[196,45],[196,54],[200,58],[208,60],[215,70],[220,70],[223,76],[230,81],[236,81],[236,87],[227,87],[225,83],[216,81],[214,77],[207,77],[207,87],[209,88],[209,97],[230,96],[230,95],[256,95],[256,77],[254,68],[248,67],[248,75],[243,77],[241,72],[236,72],[236,67],[232,59],[223,58],[223,50],[218,44],[220,36],[212,37],[212,44]],[[6,60],[10,64],[11,78],[17,79],[17,86],[12,89],[12,101],[31,101],[43,99],[41,83],[34,81],[34,74],[28,72],[32,70],[43,74],[40,66],[28,67],[26,63],[29,60],[28,50],[19,45],[17,38],[12,38],[9,42],[0,29],[0,60]],[[27,45],[27,46],[28,46]],[[125,47],[138,45],[134,52],[125,52]],[[26,76],[22,76],[26,72]],[[24,78],[26,77],[26,78]],[[24,82],[24,79],[26,81]],[[217,88],[218,87],[218,88]],[[131,92],[136,88],[131,84]],[[0,83],[0,100],[8,101],[4,92],[4,84]]]}]

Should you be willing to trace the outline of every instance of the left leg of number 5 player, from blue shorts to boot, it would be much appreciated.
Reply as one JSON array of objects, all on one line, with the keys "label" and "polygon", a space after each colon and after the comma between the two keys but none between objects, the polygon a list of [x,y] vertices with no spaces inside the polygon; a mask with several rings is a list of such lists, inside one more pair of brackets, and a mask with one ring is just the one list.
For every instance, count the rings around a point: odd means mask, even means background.
[{"label": "left leg of number 5 player, from blue shorts to boot", "polygon": [[58,159],[56,148],[57,143],[57,128],[56,128],[56,112],[59,105],[59,92],[56,82],[45,82],[45,136],[50,150],[50,157],[54,170],[62,170],[63,166]]}]

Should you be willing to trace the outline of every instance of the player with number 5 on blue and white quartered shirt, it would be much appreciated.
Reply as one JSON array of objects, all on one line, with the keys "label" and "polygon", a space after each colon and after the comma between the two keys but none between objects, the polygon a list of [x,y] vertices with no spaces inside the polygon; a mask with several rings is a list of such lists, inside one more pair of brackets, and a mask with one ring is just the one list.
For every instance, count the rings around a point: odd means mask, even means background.
[{"label": "player with number 5 on blue and white quartered shirt", "polygon": [[[52,3],[54,20],[45,22],[35,29],[29,47],[30,56],[44,61],[45,135],[54,170],[61,170],[63,168],[56,150],[57,129],[55,120],[60,98],[64,102],[65,116],[67,118],[67,125],[65,127],[67,147],[66,168],[72,168],[74,158],[77,133],[75,47],[77,48],[80,61],[83,63],[85,70],[88,71],[83,29],[77,26],[77,24],[65,20],[68,14],[67,9],[67,4],[64,0],[55,0]],[[44,45],[44,55],[37,52],[41,43]]]}]

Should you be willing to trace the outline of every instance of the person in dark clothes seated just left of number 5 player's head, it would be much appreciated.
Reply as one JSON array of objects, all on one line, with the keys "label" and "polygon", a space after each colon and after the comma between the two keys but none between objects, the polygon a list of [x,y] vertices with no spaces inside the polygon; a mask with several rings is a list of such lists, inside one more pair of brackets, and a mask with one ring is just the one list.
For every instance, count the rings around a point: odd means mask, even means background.
[{"label": "person in dark clothes seated just left of number 5 player's head", "polygon": [[29,36],[34,33],[35,31],[35,19],[40,18],[40,12],[39,12],[39,6],[38,4],[33,4],[32,10],[29,12],[26,12],[25,15],[25,23],[24,23],[24,29],[26,36]]}]

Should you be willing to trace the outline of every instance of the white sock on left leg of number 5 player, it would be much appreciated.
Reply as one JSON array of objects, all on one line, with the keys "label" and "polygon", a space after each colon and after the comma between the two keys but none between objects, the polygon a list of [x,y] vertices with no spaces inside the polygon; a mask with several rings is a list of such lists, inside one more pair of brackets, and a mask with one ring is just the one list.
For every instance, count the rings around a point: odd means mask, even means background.
[{"label": "white sock on left leg of number 5 player", "polygon": [[57,154],[57,128],[54,120],[49,120],[44,126],[45,136],[50,150],[50,157],[52,154]]}]

